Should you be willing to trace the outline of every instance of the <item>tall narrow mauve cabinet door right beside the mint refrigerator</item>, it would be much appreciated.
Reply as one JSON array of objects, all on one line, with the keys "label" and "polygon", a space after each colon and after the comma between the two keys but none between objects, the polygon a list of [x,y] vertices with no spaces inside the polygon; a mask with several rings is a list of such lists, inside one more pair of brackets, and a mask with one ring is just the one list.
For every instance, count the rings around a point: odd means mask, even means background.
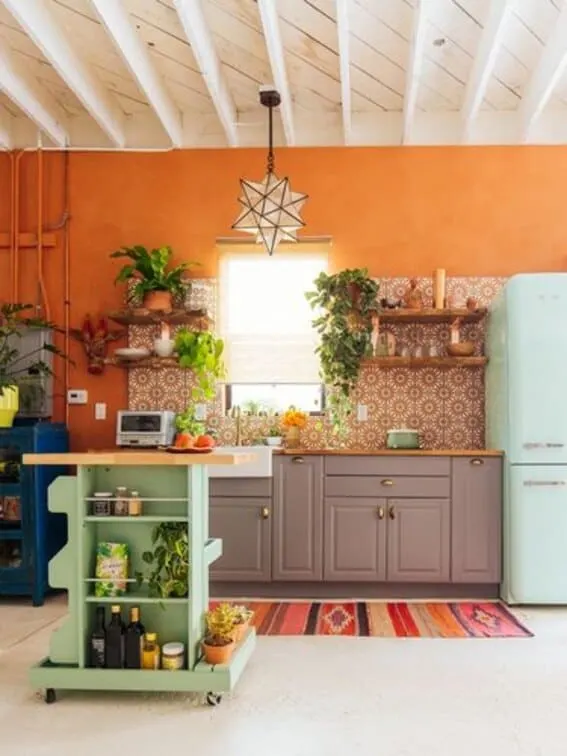
[{"label": "tall narrow mauve cabinet door right beside the mint refrigerator", "polygon": [[501,574],[502,460],[451,460],[454,583],[499,583]]}]

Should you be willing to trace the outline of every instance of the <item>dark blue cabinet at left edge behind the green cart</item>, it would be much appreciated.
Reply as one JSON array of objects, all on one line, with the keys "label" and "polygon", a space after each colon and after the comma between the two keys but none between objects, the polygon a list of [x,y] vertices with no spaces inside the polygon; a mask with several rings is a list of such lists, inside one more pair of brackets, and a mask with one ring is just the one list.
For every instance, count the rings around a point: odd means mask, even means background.
[{"label": "dark blue cabinet at left edge behind the green cart", "polygon": [[61,423],[23,421],[0,428],[0,596],[30,596],[43,604],[47,565],[67,541],[64,515],[47,509],[47,489],[62,467],[22,465],[23,454],[69,450]]}]

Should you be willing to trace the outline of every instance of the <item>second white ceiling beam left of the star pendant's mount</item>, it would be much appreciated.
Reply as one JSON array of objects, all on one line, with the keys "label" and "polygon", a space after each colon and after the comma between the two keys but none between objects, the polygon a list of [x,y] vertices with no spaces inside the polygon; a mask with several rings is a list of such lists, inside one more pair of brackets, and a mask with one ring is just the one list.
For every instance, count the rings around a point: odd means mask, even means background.
[{"label": "second white ceiling beam left of the star pendant's mount", "polygon": [[181,113],[169,96],[148,48],[138,35],[122,0],[91,0],[91,2],[173,145],[180,147],[183,142]]}]

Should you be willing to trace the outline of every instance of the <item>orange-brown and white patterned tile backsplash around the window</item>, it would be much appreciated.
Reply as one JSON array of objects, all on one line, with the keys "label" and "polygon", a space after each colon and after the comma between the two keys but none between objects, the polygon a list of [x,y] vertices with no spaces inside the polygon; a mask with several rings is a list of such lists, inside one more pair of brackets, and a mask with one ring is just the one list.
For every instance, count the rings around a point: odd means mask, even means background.
[{"label": "orange-brown and white patterned tile backsplash around the window", "polygon": [[[432,300],[431,279],[418,279],[426,306]],[[504,278],[448,278],[447,297],[455,307],[464,306],[474,297],[480,307],[490,304],[505,282]],[[380,280],[380,297],[400,298],[409,285],[407,278]],[[190,299],[191,307],[206,307],[213,319],[217,310],[217,285],[212,279],[196,281]],[[381,328],[383,330],[384,327]],[[396,349],[435,346],[445,353],[449,341],[448,325],[396,324],[388,326],[396,337]],[[152,346],[155,328],[130,328],[130,346]],[[461,340],[475,343],[475,353],[482,354],[484,323],[466,324]],[[190,371],[168,368],[131,369],[128,373],[130,409],[185,409],[191,391]],[[368,420],[351,421],[348,446],[356,449],[377,449],[385,446],[390,428],[416,428],[429,449],[482,449],[484,447],[484,369],[475,368],[363,368],[355,402],[368,407]],[[216,428],[219,442],[235,442],[235,423],[224,416],[222,396],[209,407],[208,423]],[[244,439],[265,434],[266,421],[244,418]],[[309,449],[329,444],[329,429],[322,418],[312,417],[302,431],[302,445]]]}]

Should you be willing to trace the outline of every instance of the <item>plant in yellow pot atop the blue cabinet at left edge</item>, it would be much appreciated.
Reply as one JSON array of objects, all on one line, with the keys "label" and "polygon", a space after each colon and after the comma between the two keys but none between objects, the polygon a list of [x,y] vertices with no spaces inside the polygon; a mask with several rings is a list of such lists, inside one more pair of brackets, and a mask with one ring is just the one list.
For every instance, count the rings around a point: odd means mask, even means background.
[{"label": "plant in yellow pot atop the blue cabinet at left edge", "polygon": [[43,318],[25,315],[33,305],[9,304],[0,306],[0,427],[11,428],[19,409],[20,390],[26,399],[44,395],[40,379],[53,375],[51,367],[41,359],[41,352],[51,352],[66,359],[53,344],[43,343],[31,352],[22,351],[22,338],[30,330],[55,330],[53,323]]}]

